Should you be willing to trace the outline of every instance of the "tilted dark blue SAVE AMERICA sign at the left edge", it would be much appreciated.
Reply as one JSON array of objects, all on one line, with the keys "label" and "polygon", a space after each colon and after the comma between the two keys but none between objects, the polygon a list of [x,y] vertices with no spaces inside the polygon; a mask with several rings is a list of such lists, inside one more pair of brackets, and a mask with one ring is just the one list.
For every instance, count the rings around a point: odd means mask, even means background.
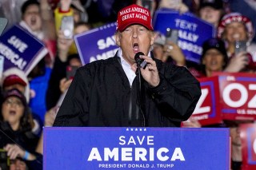
[{"label": "tilted dark blue SAVE AMERICA sign at the left edge", "polygon": [[43,43],[21,26],[12,26],[0,37],[0,57],[4,57],[3,71],[18,67],[28,75],[46,53]]}]

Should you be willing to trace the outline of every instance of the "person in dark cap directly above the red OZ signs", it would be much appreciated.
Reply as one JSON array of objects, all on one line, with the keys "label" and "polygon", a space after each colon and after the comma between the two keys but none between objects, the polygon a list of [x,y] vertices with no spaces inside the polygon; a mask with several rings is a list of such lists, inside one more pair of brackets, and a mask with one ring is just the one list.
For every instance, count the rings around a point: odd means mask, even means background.
[{"label": "person in dark cap directly above the red OZ signs", "polygon": [[203,43],[200,64],[202,77],[211,77],[214,72],[222,72],[227,62],[225,43],[222,40],[210,38]]}]

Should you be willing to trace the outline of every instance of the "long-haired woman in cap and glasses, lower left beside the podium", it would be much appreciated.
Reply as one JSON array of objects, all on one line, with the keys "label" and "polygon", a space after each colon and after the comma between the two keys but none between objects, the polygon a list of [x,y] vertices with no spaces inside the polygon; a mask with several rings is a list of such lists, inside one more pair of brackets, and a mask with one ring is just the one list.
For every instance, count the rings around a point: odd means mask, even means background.
[{"label": "long-haired woman in cap and glasses, lower left beside the podium", "polygon": [[10,157],[10,169],[42,169],[42,156],[34,152],[39,136],[32,132],[34,121],[26,97],[18,89],[3,92],[0,115],[0,148]]}]

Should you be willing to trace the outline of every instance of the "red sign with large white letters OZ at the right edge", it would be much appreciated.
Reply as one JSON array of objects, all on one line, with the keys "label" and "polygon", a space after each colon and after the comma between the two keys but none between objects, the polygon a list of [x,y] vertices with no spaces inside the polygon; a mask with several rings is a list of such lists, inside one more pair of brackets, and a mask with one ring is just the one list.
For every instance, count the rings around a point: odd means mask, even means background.
[{"label": "red sign with large white letters OZ at the right edge", "polygon": [[223,119],[254,120],[256,118],[255,74],[221,73],[218,82]]}]

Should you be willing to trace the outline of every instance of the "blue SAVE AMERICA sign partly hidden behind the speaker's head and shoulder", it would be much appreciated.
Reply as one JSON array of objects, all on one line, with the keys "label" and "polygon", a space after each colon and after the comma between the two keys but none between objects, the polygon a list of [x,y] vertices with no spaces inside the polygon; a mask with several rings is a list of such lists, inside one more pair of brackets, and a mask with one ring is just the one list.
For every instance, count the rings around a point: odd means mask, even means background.
[{"label": "blue SAVE AMERICA sign partly hidden behind the speaker's head and shoulder", "polygon": [[115,30],[116,24],[110,23],[74,36],[82,65],[114,57],[118,49],[114,39]]}]

